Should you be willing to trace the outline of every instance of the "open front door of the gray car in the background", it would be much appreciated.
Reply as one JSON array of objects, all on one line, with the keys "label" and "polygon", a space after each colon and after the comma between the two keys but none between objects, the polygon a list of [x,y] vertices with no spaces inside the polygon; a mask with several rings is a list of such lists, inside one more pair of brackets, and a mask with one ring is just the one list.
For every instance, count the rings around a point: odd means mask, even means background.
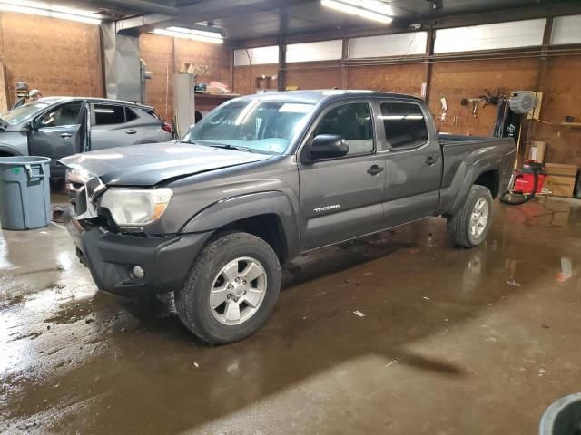
[{"label": "open front door of the gray car in the background", "polygon": [[53,160],[84,151],[86,102],[64,102],[44,111],[32,121],[28,132],[28,152]]}]

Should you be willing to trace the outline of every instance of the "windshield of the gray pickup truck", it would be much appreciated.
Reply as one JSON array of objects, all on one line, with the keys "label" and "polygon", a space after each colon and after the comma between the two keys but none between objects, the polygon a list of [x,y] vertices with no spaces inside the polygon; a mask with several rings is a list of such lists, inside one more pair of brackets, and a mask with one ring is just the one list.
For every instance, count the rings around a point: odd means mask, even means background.
[{"label": "windshield of the gray pickup truck", "polygon": [[314,104],[264,100],[227,102],[198,122],[184,141],[282,154]]}]

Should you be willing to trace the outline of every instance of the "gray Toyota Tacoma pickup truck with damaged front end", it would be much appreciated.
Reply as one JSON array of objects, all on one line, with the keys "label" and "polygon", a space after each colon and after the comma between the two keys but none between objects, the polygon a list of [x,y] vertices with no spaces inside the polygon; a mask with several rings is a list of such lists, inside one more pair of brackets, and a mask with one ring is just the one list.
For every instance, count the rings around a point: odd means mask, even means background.
[{"label": "gray Toyota Tacoma pickup truck with damaged front end", "polygon": [[406,95],[252,95],[182,140],[61,160],[65,222],[98,288],[174,292],[192,333],[231,343],[266,322],[300,253],[431,216],[478,246],[515,156],[512,139],[438,137]]}]

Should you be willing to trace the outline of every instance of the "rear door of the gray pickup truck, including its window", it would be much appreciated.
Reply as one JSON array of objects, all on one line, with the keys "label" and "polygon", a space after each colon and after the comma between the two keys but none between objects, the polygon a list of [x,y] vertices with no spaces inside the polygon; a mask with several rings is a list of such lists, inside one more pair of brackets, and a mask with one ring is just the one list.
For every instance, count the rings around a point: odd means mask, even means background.
[{"label": "rear door of the gray pickup truck, including its window", "polygon": [[433,121],[419,102],[375,105],[386,156],[385,227],[431,216],[439,204],[442,155]]}]

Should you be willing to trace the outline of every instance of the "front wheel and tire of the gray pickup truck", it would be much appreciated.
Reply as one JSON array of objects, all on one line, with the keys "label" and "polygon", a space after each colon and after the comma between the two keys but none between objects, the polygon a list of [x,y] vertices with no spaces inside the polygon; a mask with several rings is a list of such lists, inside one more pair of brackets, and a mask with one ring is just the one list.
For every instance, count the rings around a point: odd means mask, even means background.
[{"label": "front wheel and tire of the gray pickup truck", "polygon": [[202,248],[175,292],[182,323],[204,342],[237,342],[260,329],[281,291],[281,265],[260,237],[234,232]]}]

